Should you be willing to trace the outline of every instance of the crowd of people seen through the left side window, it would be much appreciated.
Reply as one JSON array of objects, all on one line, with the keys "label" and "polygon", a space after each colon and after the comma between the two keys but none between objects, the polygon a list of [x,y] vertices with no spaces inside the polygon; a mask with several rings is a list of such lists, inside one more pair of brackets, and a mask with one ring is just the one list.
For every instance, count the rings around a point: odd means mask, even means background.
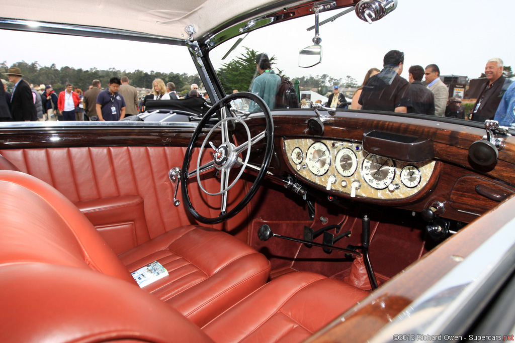
[{"label": "crowd of people seen through the left side window", "polygon": [[[180,99],[175,84],[155,79],[152,93],[144,99],[131,86],[129,79],[113,77],[108,87],[102,91],[99,80],[93,80],[89,89],[75,88],[65,84],[64,91],[57,94],[52,85],[31,86],[23,79],[20,68],[11,67],[6,73],[13,84],[12,92],[7,92],[7,82],[2,80],[0,87],[0,121],[118,121],[136,115],[145,109],[146,100]],[[192,84],[187,97],[198,97],[198,85]]]}]

